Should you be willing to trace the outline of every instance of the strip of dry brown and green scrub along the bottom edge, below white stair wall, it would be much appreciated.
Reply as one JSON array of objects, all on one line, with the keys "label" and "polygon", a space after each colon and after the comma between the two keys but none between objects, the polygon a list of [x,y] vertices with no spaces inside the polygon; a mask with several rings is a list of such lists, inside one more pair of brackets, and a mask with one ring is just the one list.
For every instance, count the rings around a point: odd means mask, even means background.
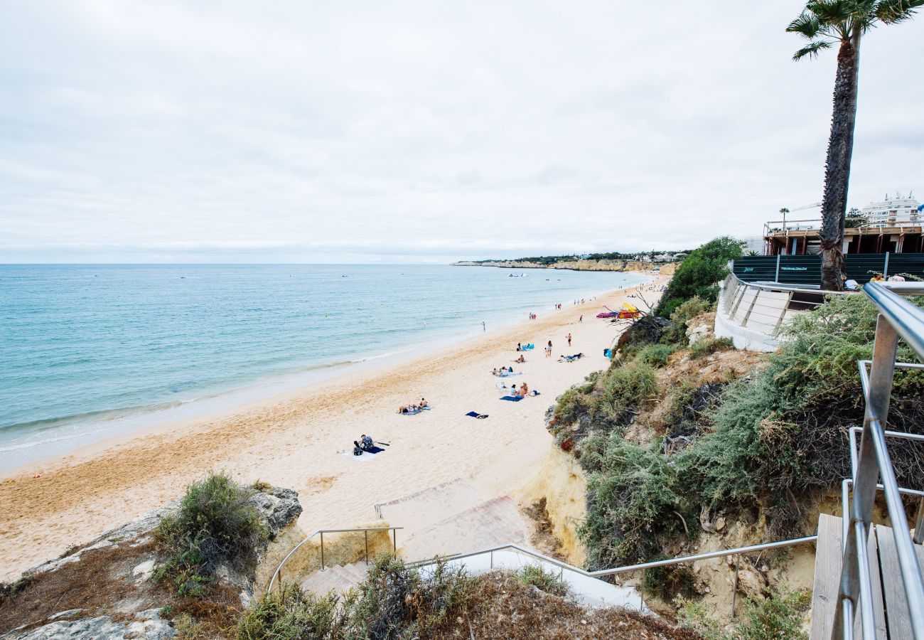
[{"label": "strip of dry brown and green scrub along the bottom edge, below white stair wall", "polygon": [[694,640],[625,609],[585,609],[565,585],[539,568],[472,575],[437,563],[422,572],[394,556],[376,560],[367,578],[342,596],[305,594],[296,585],[256,599],[240,617],[238,640],[360,638],[597,638]]}]

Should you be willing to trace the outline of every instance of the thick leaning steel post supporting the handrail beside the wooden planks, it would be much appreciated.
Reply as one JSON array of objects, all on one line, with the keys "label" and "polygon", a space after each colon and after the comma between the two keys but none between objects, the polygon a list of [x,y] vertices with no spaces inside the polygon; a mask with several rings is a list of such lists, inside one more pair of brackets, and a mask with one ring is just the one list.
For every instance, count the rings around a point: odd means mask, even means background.
[{"label": "thick leaning steel post supporting the handrail beside the wooden planks", "polygon": [[[866,399],[863,435],[860,437],[860,452],[857,456],[857,473],[853,478],[854,498],[850,510],[852,526],[848,529],[841,563],[841,587],[838,606],[834,609],[832,638],[842,637],[845,625],[852,627],[854,624],[852,620],[844,620],[842,598],[851,601],[855,616],[858,609],[857,603],[860,605],[864,628],[874,624],[873,620],[867,620],[872,614],[872,603],[860,601],[861,590],[869,594],[869,566],[859,566],[860,562],[867,558],[866,538],[869,535],[873,501],[876,498],[876,484],[879,481],[879,463],[876,461],[870,424],[876,420],[881,428],[885,429],[885,417],[889,414],[889,400],[892,396],[892,378],[897,347],[898,334],[895,333],[889,321],[880,314],[876,321],[876,339],[873,343],[872,365],[869,371],[869,397]],[[869,597],[866,599],[869,600]]]}]

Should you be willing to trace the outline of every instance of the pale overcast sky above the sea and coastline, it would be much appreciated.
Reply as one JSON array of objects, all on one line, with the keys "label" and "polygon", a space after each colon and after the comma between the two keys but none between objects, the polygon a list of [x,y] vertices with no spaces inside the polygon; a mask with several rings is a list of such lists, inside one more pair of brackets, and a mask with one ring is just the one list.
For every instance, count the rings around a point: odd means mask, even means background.
[{"label": "pale overcast sky above the sea and coastline", "polygon": [[[821,201],[790,0],[0,0],[0,263],[685,249]],[[861,48],[849,205],[924,201],[924,15]],[[813,217],[817,209],[796,214]]]}]

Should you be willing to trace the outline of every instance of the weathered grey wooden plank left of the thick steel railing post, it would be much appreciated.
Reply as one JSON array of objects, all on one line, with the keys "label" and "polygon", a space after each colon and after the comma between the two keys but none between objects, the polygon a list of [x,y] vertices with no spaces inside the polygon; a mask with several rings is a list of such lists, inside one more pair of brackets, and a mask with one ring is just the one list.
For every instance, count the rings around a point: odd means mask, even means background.
[{"label": "weathered grey wooden plank left of the thick steel railing post", "polygon": [[841,519],[827,513],[818,517],[815,547],[815,584],[811,594],[809,640],[831,640],[834,607],[841,583]]}]

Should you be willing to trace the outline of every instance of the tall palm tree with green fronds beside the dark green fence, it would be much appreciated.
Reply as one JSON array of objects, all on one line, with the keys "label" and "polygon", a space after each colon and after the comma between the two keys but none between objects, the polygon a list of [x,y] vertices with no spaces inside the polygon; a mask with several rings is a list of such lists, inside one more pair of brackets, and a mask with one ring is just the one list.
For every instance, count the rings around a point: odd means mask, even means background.
[{"label": "tall palm tree with green fronds beside the dark green fence", "polygon": [[793,55],[794,60],[817,56],[839,43],[821,204],[821,289],[844,289],[841,245],[857,122],[860,36],[880,22],[894,24],[911,18],[919,6],[924,6],[924,0],[808,0],[802,14],[786,27],[808,40]]}]

